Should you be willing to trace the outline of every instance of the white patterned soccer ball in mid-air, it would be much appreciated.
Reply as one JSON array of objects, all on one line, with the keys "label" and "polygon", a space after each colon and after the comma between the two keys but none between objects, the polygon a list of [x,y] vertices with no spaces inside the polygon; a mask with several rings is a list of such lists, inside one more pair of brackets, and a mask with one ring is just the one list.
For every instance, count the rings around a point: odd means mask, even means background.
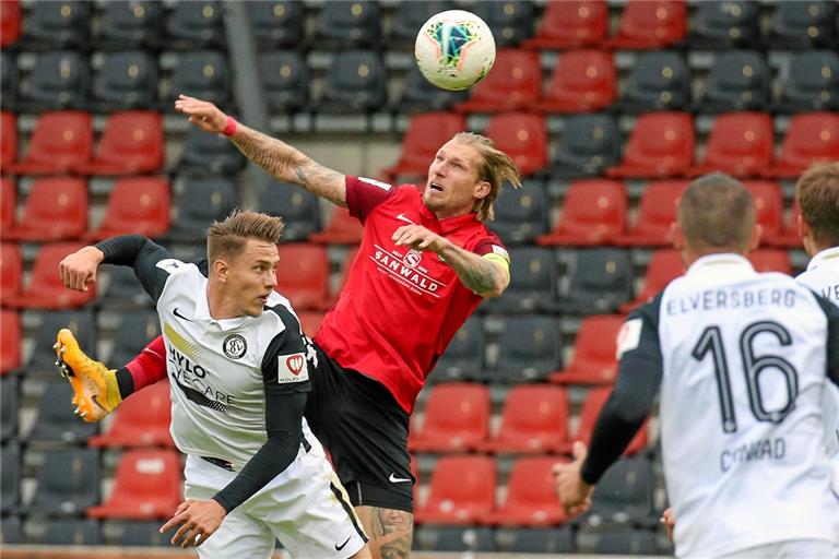
[{"label": "white patterned soccer ball in mid-air", "polygon": [[416,36],[416,64],[444,90],[466,90],[480,82],[495,62],[495,39],[477,15],[449,10],[432,15]]}]

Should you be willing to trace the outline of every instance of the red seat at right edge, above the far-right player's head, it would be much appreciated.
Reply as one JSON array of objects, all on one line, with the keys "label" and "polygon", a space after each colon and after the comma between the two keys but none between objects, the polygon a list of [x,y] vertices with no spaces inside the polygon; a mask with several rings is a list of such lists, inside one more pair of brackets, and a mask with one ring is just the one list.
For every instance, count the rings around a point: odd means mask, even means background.
[{"label": "red seat at right edge, above the far-right player's head", "polygon": [[790,118],[781,155],[766,169],[767,178],[796,178],[816,162],[839,159],[839,115],[806,112]]}]

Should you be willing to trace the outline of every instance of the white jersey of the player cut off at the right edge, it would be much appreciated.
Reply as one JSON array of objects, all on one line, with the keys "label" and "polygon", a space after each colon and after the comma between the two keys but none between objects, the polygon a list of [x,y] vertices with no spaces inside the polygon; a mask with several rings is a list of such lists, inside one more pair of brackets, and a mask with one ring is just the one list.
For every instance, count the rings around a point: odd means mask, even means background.
[{"label": "white jersey of the player cut off at the right edge", "polygon": [[[839,247],[826,249],[813,257],[806,272],[795,280],[839,307]],[[824,401],[827,427],[827,452],[834,463],[834,487],[839,492],[839,388],[828,382]]]}]

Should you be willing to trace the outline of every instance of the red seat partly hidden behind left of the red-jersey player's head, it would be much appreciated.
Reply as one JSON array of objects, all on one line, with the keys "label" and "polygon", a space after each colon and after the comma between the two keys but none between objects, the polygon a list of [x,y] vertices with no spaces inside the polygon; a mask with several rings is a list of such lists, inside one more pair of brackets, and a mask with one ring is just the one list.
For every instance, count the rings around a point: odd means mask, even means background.
[{"label": "red seat partly hidden behind left of the red-jersey player's head", "polygon": [[391,182],[399,176],[425,177],[437,151],[458,132],[466,129],[463,115],[424,112],[411,119],[402,140],[402,152],[392,167],[381,173]]}]

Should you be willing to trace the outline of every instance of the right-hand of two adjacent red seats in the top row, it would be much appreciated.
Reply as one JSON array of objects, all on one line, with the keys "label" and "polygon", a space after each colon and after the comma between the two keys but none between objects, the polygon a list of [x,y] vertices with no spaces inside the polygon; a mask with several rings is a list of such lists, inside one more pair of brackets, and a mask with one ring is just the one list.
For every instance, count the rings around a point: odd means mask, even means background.
[{"label": "right-hand of two adjacent red seats in the top row", "polygon": [[660,49],[681,41],[686,34],[683,0],[629,0],[607,45],[615,49]]}]

